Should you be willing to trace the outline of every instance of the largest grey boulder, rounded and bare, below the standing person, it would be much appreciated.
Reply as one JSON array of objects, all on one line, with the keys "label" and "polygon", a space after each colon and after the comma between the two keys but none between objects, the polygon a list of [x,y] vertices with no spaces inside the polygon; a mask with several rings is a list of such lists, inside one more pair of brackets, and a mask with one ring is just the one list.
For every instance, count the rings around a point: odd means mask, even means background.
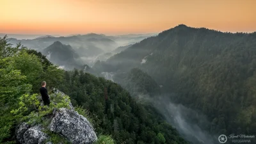
[{"label": "largest grey boulder, rounded and bare, below the standing person", "polygon": [[60,108],[54,111],[49,129],[65,136],[71,143],[90,144],[97,141],[92,125],[72,109]]}]

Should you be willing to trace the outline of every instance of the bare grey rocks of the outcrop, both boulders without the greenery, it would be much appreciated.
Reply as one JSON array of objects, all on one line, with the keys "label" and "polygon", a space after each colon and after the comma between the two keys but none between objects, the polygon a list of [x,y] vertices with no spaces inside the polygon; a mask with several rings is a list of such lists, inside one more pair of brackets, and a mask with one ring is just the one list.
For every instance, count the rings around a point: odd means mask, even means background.
[{"label": "bare grey rocks of the outcrop, both boulders without the greenery", "polygon": [[[54,98],[57,97],[57,95],[63,97],[65,93],[54,90],[54,93],[51,94],[50,97]],[[51,136],[47,135],[48,132],[46,134],[45,131],[55,132],[62,138],[65,138],[65,140],[74,144],[91,144],[97,141],[97,136],[90,122],[88,122],[84,116],[79,115],[70,102],[68,108],[54,108],[53,113],[47,115],[47,118],[52,119],[50,119],[49,125],[44,125],[44,127],[40,124],[29,125],[22,123],[18,125],[16,129],[17,141],[22,144],[53,143],[53,141],[50,141]]]}]

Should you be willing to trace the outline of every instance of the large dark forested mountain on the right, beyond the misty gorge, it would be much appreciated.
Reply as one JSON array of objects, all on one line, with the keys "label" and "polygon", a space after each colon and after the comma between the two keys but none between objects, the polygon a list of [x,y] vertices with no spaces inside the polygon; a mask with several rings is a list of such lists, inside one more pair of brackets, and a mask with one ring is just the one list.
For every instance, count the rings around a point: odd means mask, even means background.
[{"label": "large dark forested mountain on the right, beyond the misty gorge", "polygon": [[179,25],[95,63],[95,70],[147,72],[173,102],[204,113],[217,134],[256,133],[256,33]]}]

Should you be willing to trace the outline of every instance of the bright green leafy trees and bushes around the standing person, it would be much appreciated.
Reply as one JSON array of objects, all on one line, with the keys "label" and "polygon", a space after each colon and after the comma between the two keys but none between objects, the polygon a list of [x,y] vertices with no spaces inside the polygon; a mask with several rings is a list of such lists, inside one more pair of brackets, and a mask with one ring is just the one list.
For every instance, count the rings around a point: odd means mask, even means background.
[{"label": "bright green leafy trees and bushes around the standing person", "polygon": [[40,52],[29,51],[20,44],[12,47],[6,36],[0,38],[0,143],[15,141],[15,125],[20,121],[40,123],[52,108],[68,106],[67,96],[60,103],[45,107],[33,94],[38,93],[41,81],[58,88],[63,79],[64,71],[45,60]]}]

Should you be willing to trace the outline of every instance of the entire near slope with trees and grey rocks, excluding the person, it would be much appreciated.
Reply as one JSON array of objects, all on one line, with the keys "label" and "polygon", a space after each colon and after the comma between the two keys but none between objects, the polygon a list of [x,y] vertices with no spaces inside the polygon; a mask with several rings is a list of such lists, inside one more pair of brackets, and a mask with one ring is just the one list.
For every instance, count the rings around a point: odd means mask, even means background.
[{"label": "entire near slope with trees and grey rocks, excluding the person", "polygon": [[[0,42],[0,143],[92,143],[95,132],[108,144],[114,141],[99,134],[111,134],[116,143],[187,143],[156,109],[136,102],[118,84],[83,70],[61,70],[39,52],[11,47],[6,38]],[[49,106],[40,103],[42,81]],[[70,95],[76,107],[52,88]]]}]

